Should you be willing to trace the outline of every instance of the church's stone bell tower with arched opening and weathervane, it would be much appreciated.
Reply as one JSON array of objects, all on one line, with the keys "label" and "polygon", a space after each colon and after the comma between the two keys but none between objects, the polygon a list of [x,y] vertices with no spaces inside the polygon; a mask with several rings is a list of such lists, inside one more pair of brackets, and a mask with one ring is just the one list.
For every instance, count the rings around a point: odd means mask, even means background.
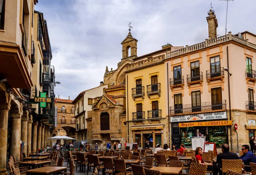
[{"label": "church's stone bell tower with arched opening and weathervane", "polygon": [[[122,44],[122,60],[131,60],[137,57],[137,42],[134,37],[131,36],[131,23],[128,25],[129,27],[129,33],[125,40],[121,42]],[[131,54],[129,55],[129,49],[131,51]]]}]

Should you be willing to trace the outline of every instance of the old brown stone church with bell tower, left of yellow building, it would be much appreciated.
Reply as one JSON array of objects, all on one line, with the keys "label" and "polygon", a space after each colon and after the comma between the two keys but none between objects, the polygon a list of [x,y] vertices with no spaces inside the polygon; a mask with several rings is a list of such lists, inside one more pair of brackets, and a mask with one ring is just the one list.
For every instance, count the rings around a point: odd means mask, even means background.
[{"label": "old brown stone church with bell tower, left of yellow building", "polygon": [[[94,98],[92,111],[88,111],[87,140],[93,145],[98,142],[99,148],[105,149],[109,140],[113,142],[127,140],[126,104],[125,104],[125,71],[137,57],[137,41],[129,30],[128,36],[121,42],[122,59],[117,69],[111,71],[106,67],[104,84],[108,85],[102,96]],[[128,51],[131,50],[129,56]]]}]

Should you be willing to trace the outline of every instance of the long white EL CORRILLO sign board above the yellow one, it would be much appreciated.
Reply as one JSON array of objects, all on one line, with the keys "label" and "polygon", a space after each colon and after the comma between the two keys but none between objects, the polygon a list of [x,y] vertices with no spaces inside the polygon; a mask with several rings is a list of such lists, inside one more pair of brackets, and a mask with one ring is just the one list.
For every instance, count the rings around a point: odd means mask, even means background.
[{"label": "long white EL CORRILLO sign board above the yellow one", "polygon": [[198,120],[215,120],[215,119],[227,119],[227,112],[216,112],[216,113],[199,113],[183,116],[171,116],[171,122],[181,121],[198,121]]}]

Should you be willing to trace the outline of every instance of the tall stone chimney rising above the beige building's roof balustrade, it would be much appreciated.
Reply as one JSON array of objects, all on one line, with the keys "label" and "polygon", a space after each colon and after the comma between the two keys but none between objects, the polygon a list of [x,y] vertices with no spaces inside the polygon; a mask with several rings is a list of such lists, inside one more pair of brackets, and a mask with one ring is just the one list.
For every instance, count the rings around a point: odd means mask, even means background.
[{"label": "tall stone chimney rising above the beige building's roof balustrade", "polygon": [[218,21],[216,19],[216,15],[214,14],[214,10],[210,9],[208,11],[208,17],[206,17],[208,22],[208,31],[209,31],[209,40],[217,37],[217,27]]}]

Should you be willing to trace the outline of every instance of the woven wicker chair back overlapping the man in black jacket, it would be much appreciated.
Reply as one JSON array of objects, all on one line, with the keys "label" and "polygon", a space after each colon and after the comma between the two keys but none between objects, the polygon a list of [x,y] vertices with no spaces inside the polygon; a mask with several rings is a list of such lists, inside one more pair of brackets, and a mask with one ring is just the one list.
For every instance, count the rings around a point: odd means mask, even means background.
[{"label": "woven wicker chair back overlapping the man in black jacket", "polygon": [[243,162],[241,159],[230,160],[230,159],[222,159],[222,172],[226,173],[228,170],[234,172],[242,172]]}]

